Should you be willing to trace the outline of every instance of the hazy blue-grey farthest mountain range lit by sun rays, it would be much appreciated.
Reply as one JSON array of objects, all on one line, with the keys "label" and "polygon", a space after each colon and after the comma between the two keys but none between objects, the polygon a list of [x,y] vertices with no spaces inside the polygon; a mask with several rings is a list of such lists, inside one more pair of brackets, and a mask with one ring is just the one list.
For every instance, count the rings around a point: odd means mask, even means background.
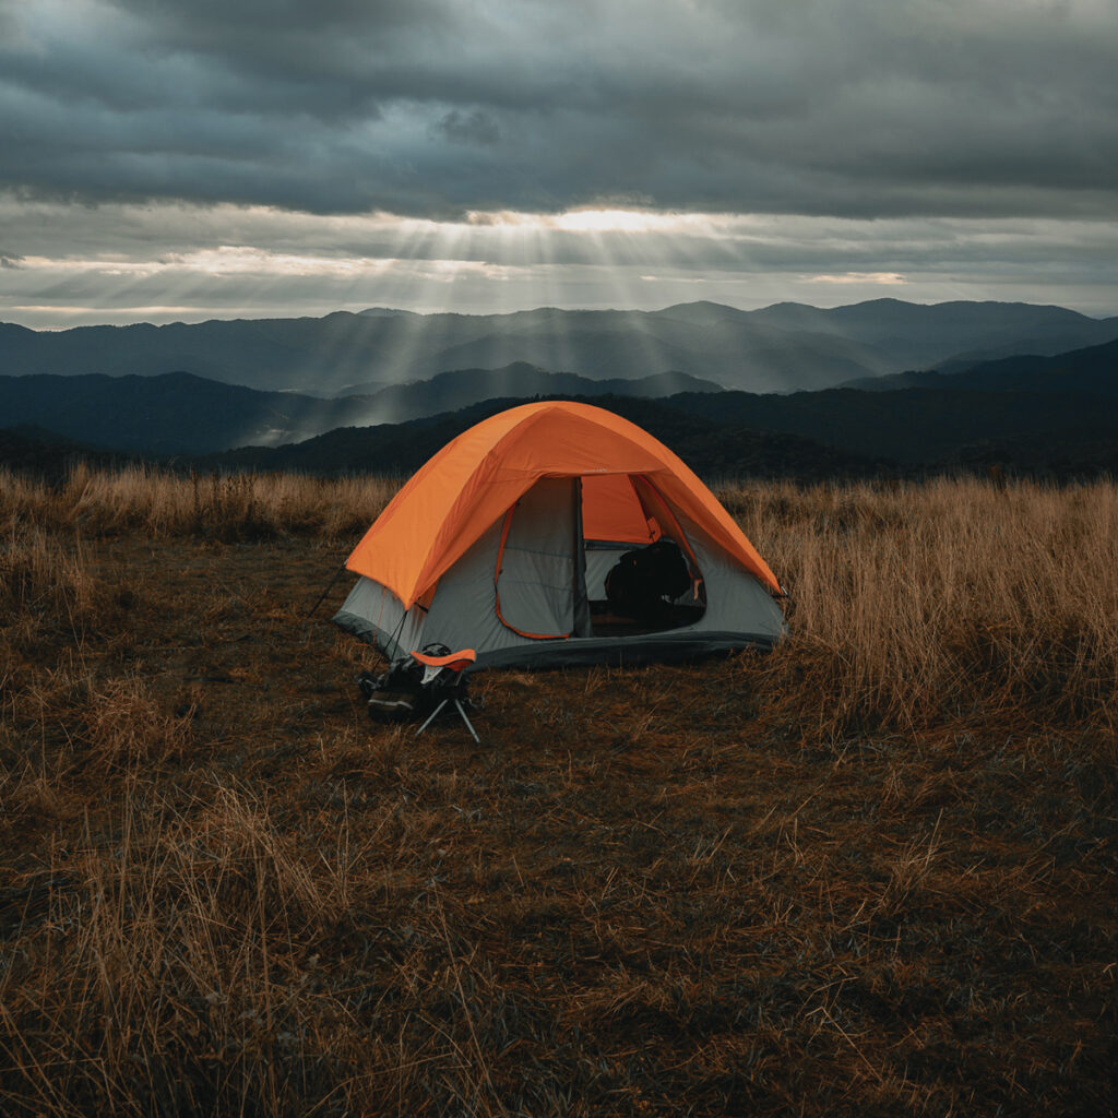
[{"label": "hazy blue-grey farthest mountain range lit by sun rays", "polygon": [[1058,306],[875,300],[821,310],[740,311],[685,303],[662,311],[414,314],[375,309],[322,319],[79,326],[0,323],[7,376],[152,377],[189,372],[265,391],[369,395],[448,370],[524,362],[591,380],[678,372],[742,391],[833,388],[909,369],[1055,354],[1118,338],[1118,318]]}]

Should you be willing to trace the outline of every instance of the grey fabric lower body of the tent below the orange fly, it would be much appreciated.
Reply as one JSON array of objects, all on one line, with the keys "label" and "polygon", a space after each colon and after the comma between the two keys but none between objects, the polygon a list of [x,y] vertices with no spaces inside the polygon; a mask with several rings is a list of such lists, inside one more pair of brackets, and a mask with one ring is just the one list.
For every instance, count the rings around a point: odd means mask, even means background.
[{"label": "grey fabric lower body of the tent below the orange fly", "polygon": [[584,540],[579,496],[577,477],[541,479],[442,576],[426,608],[405,610],[362,576],[334,622],[389,660],[435,643],[474,648],[475,670],[685,660],[770,648],[784,634],[769,590],[674,509],[705,608],[697,603],[692,620],[660,632],[596,634],[591,603],[605,599],[606,575],[634,544]]}]

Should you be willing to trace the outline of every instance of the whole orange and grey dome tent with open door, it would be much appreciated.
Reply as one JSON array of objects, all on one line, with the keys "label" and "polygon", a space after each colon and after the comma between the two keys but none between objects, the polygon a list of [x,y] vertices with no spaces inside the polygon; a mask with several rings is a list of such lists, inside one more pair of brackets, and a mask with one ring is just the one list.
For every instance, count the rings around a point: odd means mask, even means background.
[{"label": "whole orange and grey dome tent with open door", "polygon": [[[690,589],[650,626],[610,613],[625,552],[666,538]],[[647,432],[603,408],[510,408],[443,447],[345,562],[334,622],[390,660],[428,644],[475,667],[689,659],[783,634],[784,591],[713,494]]]}]

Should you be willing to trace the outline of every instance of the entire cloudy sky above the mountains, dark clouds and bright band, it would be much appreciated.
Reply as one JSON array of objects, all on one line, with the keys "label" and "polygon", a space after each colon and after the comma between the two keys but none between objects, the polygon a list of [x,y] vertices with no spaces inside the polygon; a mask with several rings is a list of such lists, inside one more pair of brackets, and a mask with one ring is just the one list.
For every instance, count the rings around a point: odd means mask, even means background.
[{"label": "entire cloudy sky above the mountains, dark clouds and bright band", "polygon": [[1118,313],[1118,0],[0,0],[0,320]]}]

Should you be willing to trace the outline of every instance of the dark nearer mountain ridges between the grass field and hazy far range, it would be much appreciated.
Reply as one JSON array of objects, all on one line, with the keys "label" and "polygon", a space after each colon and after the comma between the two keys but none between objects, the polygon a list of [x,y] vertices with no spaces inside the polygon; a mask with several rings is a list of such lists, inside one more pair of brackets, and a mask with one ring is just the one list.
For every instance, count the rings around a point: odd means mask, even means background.
[{"label": "dark nearer mountain ridges between the grass field and hazy far range", "polygon": [[[530,368],[498,370],[492,380],[483,370],[446,375],[408,387],[430,392],[442,381],[448,390],[436,395],[452,406],[372,425],[347,420],[358,414],[352,409],[368,409],[377,396],[324,400],[257,392],[187,373],[0,378],[0,406],[37,428],[32,434],[39,447],[54,430],[69,438],[84,433],[86,442],[102,449],[191,461],[206,456],[206,464],[220,467],[399,473],[414,470],[471,423],[524,399],[513,390],[458,407],[456,394],[468,392],[471,385],[515,389],[525,382],[520,377],[538,387],[552,383],[549,375]],[[608,406],[704,473],[815,477],[1003,462],[1052,475],[1098,473],[1118,464],[1118,340],[1059,358],[1023,357],[908,379],[911,385],[894,379],[891,390],[836,388],[785,396],[694,390],[659,399],[536,395]],[[37,411],[27,406],[29,400]],[[17,413],[17,405],[22,410]],[[47,428],[51,409],[54,426]],[[283,445],[274,437],[243,437],[249,429],[274,435],[277,424],[319,430]],[[256,445],[236,448],[245,443]]]}]

